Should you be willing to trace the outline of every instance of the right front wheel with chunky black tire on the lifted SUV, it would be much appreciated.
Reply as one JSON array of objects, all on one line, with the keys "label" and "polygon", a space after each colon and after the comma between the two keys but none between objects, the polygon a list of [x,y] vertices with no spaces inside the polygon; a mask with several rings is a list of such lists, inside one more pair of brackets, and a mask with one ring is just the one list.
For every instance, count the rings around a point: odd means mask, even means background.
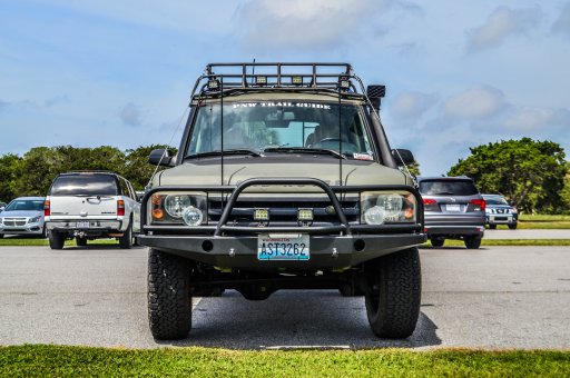
[{"label": "right front wheel with chunky black tire on the lifted SUV", "polygon": [[370,261],[365,266],[366,316],[377,337],[401,339],[411,336],[420,316],[422,272],[417,248]]}]

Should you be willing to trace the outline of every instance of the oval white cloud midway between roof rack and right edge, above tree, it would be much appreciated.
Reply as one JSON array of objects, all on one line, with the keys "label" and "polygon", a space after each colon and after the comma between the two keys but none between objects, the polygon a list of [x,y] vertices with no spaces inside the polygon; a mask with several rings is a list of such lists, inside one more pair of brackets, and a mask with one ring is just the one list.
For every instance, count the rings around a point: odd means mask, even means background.
[{"label": "oval white cloud midway between roof rack and right edge, above tree", "polygon": [[444,116],[460,120],[483,119],[508,107],[501,90],[489,86],[475,86],[451,97],[443,103]]}]

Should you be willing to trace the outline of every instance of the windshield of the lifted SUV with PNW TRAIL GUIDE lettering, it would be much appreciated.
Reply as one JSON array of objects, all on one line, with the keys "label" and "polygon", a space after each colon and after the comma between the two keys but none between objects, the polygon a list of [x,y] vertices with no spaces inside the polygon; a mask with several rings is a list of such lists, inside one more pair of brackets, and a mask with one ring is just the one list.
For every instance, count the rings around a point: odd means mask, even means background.
[{"label": "windshield of the lifted SUV with PNW TRAIL GUIDE lettering", "polygon": [[326,149],[372,160],[363,116],[354,105],[254,101],[224,103],[223,111],[220,105],[200,107],[186,156],[220,151],[222,145],[224,151]]}]

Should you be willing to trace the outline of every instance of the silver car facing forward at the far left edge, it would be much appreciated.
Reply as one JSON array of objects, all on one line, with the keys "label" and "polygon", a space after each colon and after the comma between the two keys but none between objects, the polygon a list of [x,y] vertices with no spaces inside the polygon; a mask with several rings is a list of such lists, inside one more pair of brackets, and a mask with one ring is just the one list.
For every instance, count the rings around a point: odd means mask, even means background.
[{"label": "silver car facing forward at the far left edge", "polygon": [[0,239],[4,235],[46,237],[43,197],[19,197],[0,212]]}]

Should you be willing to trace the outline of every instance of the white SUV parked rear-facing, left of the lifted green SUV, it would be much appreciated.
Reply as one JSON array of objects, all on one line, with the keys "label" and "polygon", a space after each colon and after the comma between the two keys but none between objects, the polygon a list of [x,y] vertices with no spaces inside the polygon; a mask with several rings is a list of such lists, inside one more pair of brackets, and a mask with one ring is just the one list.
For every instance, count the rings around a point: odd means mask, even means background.
[{"label": "white SUV parked rear-facing, left of the lifted green SUV", "polygon": [[87,240],[117,238],[120,248],[131,248],[140,230],[140,203],[128,180],[114,172],[61,173],[53,180],[45,205],[51,249],[62,249],[66,239],[78,246]]}]

